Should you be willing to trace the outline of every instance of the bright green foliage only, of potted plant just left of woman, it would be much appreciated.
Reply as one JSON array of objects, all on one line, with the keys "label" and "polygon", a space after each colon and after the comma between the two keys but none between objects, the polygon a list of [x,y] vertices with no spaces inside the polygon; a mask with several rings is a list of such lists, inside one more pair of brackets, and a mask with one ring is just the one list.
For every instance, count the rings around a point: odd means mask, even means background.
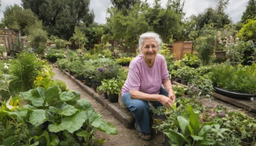
[{"label": "bright green foliage only, of potted plant just left of woman", "polygon": [[103,92],[107,92],[107,94],[109,95],[110,93],[121,94],[121,88],[124,85],[125,81],[120,79],[104,79],[101,83],[102,85],[97,87],[97,92],[99,92],[99,90],[103,90]]}]

